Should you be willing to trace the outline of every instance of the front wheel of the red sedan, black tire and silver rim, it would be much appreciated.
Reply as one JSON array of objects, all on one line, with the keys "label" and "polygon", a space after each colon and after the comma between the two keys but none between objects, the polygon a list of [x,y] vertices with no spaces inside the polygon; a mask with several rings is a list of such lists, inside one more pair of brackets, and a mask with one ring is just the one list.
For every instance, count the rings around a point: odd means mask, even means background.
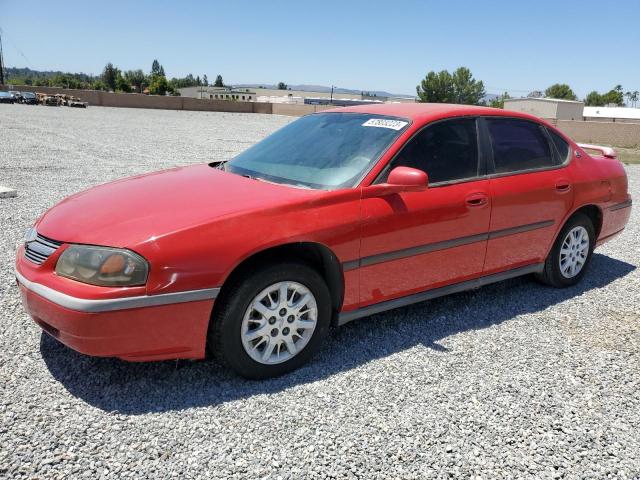
[{"label": "front wheel of the red sedan, black tire and silver rim", "polygon": [[214,307],[208,344],[216,358],[251,379],[306,363],[329,331],[331,296],[322,277],[299,263],[240,275]]}]

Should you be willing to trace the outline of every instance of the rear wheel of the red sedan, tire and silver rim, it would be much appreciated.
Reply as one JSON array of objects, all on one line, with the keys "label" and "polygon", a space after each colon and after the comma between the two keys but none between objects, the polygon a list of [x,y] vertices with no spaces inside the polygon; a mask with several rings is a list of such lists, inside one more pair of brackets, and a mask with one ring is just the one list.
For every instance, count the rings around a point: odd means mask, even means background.
[{"label": "rear wheel of the red sedan, tire and silver rim", "polygon": [[536,274],[536,279],[556,288],[577,284],[591,262],[595,242],[591,219],[576,213],[560,230],[544,263],[544,270]]}]

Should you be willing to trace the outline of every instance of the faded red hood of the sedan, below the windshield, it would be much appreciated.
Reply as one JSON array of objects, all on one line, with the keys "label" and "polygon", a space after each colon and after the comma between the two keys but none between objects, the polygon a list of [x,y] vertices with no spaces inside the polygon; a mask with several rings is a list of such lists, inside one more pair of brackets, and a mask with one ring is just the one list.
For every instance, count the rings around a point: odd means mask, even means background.
[{"label": "faded red hood of the sedan, below the windshield", "polygon": [[61,242],[131,248],[172,232],[323,193],[194,165],[72,195],[47,211],[37,230]]}]

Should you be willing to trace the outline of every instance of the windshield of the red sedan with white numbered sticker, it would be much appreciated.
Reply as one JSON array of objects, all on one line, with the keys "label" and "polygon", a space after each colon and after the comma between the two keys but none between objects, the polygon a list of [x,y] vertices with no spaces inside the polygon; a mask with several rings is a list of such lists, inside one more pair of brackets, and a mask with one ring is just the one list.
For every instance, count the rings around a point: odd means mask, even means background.
[{"label": "windshield of the red sedan with white numbered sticker", "polygon": [[409,125],[362,113],[296,120],[224,165],[228,172],[323,190],[352,187]]}]

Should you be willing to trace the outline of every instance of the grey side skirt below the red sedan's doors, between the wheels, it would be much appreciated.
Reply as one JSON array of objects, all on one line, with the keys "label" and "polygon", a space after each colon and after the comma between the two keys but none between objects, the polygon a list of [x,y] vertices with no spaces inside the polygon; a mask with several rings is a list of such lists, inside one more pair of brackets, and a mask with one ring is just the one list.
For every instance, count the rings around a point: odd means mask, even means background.
[{"label": "grey side skirt below the red sedan's doors, between the wheels", "polygon": [[413,295],[408,295],[406,297],[376,303],[374,305],[369,305],[368,307],[359,308],[357,310],[342,312],[338,317],[338,325],[344,325],[345,323],[348,323],[352,320],[357,320],[358,318],[362,317],[368,317],[369,315],[374,315],[376,313],[386,312],[387,310],[393,310],[394,308],[405,307],[407,305],[411,305],[412,303],[424,302],[425,300],[431,300],[433,298],[442,297],[451,293],[464,292],[465,290],[479,288],[484,285],[489,285],[490,283],[501,282],[503,280],[520,277],[529,273],[540,273],[543,269],[544,263],[534,263],[532,265],[514,268],[513,270],[498,272],[492,275],[474,278],[473,280],[454,283],[453,285],[434,288],[425,292],[414,293]]}]

